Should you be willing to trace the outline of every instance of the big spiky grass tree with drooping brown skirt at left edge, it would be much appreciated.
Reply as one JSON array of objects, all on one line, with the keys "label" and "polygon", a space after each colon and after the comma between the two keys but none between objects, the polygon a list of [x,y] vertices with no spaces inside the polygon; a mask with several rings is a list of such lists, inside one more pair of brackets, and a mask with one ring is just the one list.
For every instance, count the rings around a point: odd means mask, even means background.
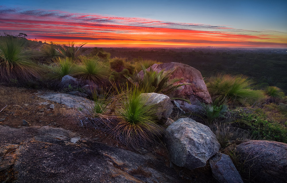
[{"label": "big spiky grass tree with drooping brown skirt at left edge", "polygon": [[1,38],[0,81],[32,81],[39,77],[39,68],[25,55],[24,42],[16,38]]}]

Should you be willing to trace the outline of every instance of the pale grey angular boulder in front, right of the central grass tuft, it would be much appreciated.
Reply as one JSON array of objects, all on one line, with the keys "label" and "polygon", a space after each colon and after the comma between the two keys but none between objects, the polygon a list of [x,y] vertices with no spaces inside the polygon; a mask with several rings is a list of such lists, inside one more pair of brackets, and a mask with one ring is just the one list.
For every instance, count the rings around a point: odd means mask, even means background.
[{"label": "pale grey angular boulder in front, right of the central grass tuft", "polygon": [[171,161],[181,167],[204,167],[220,144],[208,126],[181,118],[166,128],[166,145]]}]

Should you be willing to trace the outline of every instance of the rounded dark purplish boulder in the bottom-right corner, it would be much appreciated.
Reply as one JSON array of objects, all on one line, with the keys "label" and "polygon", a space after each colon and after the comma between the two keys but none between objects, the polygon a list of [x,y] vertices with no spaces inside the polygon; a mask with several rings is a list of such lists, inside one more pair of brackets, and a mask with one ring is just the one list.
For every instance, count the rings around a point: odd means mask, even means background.
[{"label": "rounded dark purplish boulder in the bottom-right corner", "polygon": [[250,140],[237,145],[235,152],[255,182],[286,183],[287,144]]}]

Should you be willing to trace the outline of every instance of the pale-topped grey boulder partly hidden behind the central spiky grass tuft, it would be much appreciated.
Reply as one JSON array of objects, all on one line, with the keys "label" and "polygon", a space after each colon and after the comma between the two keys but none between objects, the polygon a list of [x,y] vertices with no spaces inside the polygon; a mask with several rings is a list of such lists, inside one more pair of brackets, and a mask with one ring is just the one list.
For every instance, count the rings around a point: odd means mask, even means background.
[{"label": "pale-topped grey boulder partly hidden behind the central spiky grass tuft", "polygon": [[158,93],[141,93],[140,96],[146,100],[146,105],[156,106],[158,120],[166,121],[172,113],[173,105],[168,96]]}]

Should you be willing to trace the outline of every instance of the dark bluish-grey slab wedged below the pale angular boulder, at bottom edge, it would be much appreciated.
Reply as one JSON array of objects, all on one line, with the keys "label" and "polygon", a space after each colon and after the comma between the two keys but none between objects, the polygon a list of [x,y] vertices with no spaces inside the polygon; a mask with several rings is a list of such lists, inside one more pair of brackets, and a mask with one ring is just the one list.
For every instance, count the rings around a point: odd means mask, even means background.
[{"label": "dark bluish-grey slab wedged below the pale angular boulder, at bottom edge", "polygon": [[220,183],[243,183],[230,157],[217,153],[210,160],[212,176]]}]

